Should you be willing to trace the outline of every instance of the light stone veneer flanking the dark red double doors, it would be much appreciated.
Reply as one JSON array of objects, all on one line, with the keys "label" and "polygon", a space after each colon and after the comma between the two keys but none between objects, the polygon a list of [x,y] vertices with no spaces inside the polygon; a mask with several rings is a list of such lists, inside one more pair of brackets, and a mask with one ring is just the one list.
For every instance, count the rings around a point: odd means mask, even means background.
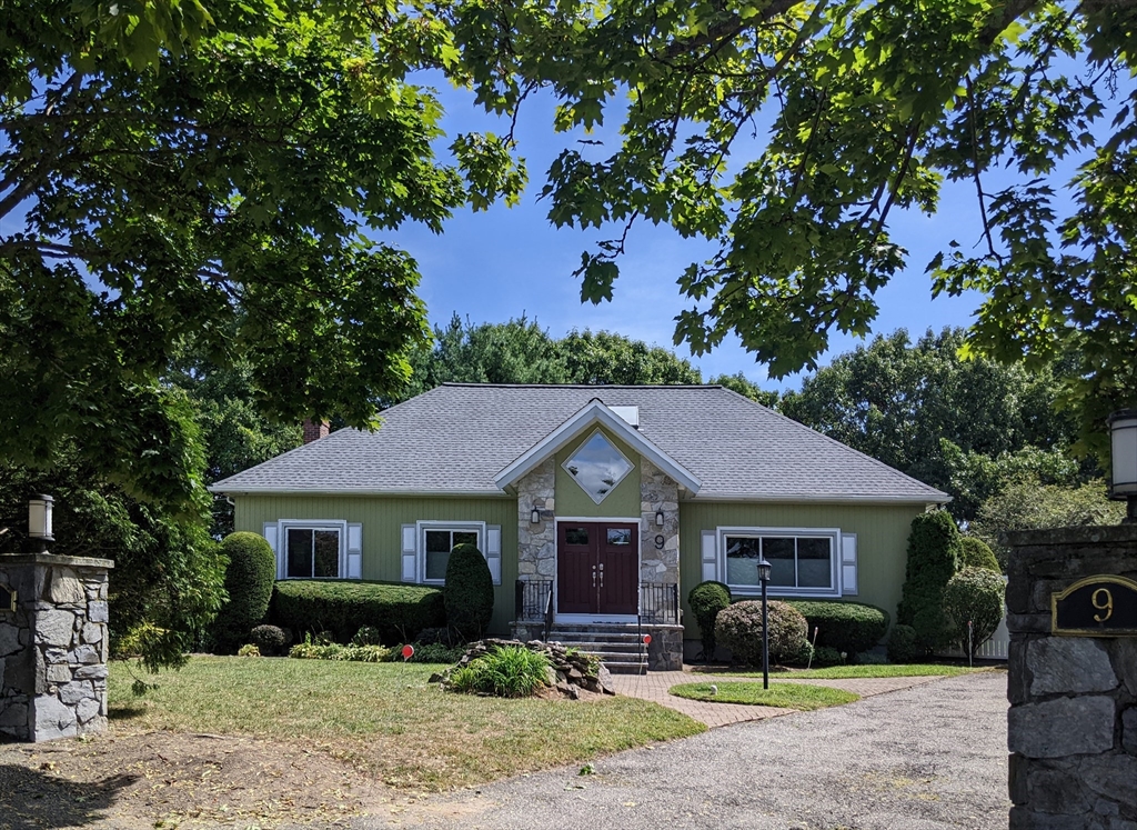
[{"label": "light stone veneer flanking the dark red double doors", "polygon": [[[537,524],[530,520],[534,507],[541,519]],[[659,510],[664,516],[662,527],[655,524]],[[547,458],[517,482],[517,574],[522,580],[555,580],[557,575],[555,458]],[[679,484],[646,458],[640,459],[640,581],[679,584]],[[539,630],[515,625],[514,635],[536,639]],[[652,634],[649,668],[682,667],[681,625],[650,624],[644,631]]]}]

